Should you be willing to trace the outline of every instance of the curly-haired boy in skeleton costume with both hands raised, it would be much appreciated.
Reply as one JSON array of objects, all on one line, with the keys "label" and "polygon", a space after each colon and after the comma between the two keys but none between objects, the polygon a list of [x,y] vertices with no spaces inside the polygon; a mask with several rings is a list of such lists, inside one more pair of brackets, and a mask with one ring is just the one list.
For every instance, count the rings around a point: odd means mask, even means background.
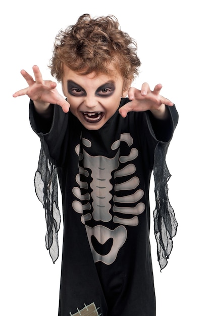
[{"label": "curly-haired boy in skeleton costume with both hands raised", "polygon": [[[36,193],[46,212],[46,246],[55,262],[62,192],[64,239],[59,315],[154,316],[155,294],[149,244],[149,182],[153,170],[154,230],[161,269],[172,250],[177,222],[168,200],[165,155],[178,122],[174,104],[130,87],[140,61],[136,44],[113,16],[60,31],[51,74],[62,82],[28,87],[30,122],[41,139]],[[128,97],[126,97],[128,95]],[[56,105],[54,105],[56,104]]]}]

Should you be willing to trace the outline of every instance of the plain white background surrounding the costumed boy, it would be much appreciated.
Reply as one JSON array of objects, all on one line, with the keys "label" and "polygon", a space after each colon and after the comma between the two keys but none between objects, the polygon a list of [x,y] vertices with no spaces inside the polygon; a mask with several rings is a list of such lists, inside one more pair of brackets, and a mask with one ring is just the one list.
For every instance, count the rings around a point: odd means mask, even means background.
[{"label": "plain white background surrounding the costumed boy", "polygon": [[[137,6],[138,4],[138,6]],[[34,193],[40,142],[28,120],[20,70],[37,64],[44,79],[54,38],[77,18],[115,15],[138,43],[134,86],[163,84],[180,120],[167,164],[169,197],[179,222],[168,266],[160,273],[151,224],[157,316],[209,315],[209,9],[207,1],[7,1],[1,8],[0,314],[56,316],[60,257],[45,250],[45,217]],[[151,183],[151,211],[154,208]],[[60,209],[61,209],[60,200]],[[128,315],[129,316],[129,315]]]}]

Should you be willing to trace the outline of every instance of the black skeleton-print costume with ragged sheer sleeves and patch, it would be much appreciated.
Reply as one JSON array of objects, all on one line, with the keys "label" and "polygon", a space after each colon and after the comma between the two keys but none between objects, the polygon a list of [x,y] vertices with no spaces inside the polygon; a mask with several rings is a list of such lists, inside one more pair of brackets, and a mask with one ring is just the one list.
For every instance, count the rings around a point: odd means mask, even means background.
[{"label": "black skeleton-print costume with ragged sheer sleeves and patch", "polygon": [[[128,98],[121,100],[122,107]],[[41,139],[35,189],[46,214],[46,247],[58,258],[63,203],[59,316],[154,316],[149,243],[149,182],[154,172],[154,232],[161,269],[167,265],[177,222],[168,200],[165,156],[178,114],[160,121],[149,111],[118,111],[99,130],[87,130],[54,106],[46,122],[30,102],[30,122]]]}]

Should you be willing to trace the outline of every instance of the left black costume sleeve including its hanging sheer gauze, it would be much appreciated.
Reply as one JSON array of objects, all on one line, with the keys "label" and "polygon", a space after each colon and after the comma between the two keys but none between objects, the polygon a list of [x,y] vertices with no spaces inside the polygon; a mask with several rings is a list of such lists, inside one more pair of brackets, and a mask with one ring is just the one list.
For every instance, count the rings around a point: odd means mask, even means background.
[{"label": "left black costume sleeve including its hanging sheer gauze", "polygon": [[34,132],[41,140],[38,168],[34,177],[35,192],[43,205],[46,218],[46,248],[55,262],[59,256],[58,232],[61,215],[58,207],[57,166],[62,156],[62,144],[68,126],[68,114],[61,107],[53,105],[50,119],[43,119],[37,114],[33,101],[30,101],[29,118]]}]

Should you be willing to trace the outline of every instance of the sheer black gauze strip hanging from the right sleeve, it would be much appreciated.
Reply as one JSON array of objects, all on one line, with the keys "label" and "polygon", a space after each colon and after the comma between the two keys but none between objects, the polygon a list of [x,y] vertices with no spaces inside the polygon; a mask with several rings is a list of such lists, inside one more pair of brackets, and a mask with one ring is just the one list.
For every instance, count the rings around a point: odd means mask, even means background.
[{"label": "sheer black gauze strip hanging from the right sleeve", "polygon": [[177,221],[168,197],[168,180],[171,175],[166,165],[164,147],[158,143],[154,152],[154,192],[156,206],[154,209],[154,234],[157,242],[158,260],[163,270],[172,251],[172,238],[177,232]]}]

